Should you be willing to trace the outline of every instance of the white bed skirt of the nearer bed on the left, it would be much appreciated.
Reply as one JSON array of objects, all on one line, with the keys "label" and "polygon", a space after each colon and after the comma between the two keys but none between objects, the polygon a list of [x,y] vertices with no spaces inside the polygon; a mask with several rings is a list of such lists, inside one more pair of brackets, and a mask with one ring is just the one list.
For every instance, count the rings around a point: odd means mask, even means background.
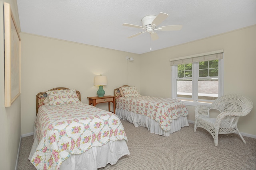
[{"label": "white bed skirt of the nearer bed on the left", "polygon": [[[28,157],[29,160],[37,146],[38,139],[34,133],[34,143]],[[82,154],[72,154],[62,162],[59,170],[97,170],[97,168],[105,167],[108,163],[116,164],[119,158],[129,154],[126,140],[109,141],[101,147],[92,147]]]}]

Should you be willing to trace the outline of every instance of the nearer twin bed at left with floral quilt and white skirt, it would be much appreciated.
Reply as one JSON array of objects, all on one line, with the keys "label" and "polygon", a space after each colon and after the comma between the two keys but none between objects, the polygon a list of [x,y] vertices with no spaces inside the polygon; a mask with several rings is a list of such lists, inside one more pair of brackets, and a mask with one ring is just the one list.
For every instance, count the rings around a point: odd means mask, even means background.
[{"label": "nearer twin bed at left with floral quilt and white skirt", "polygon": [[130,154],[120,119],[80,100],[80,92],[68,88],[37,94],[28,158],[37,169],[96,170]]}]

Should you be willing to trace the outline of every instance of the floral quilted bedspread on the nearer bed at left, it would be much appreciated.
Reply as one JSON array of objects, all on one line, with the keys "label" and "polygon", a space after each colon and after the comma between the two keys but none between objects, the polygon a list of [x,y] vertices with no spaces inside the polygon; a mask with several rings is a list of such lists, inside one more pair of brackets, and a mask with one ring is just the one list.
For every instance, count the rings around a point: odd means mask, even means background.
[{"label": "floral quilted bedspread on the nearer bed at left", "polygon": [[109,141],[127,141],[114,113],[84,103],[41,106],[35,125],[39,145],[30,161],[38,170],[58,169],[71,154],[81,154]]}]

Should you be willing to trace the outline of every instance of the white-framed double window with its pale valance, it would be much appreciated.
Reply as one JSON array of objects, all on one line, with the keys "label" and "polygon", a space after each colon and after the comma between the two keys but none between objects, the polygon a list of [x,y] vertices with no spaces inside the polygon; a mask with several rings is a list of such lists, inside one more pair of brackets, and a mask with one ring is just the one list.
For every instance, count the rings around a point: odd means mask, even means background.
[{"label": "white-framed double window with its pale valance", "polygon": [[198,103],[211,103],[218,96],[222,96],[223,51],[181,57],[170,61],[172,98],[195,106]]}]

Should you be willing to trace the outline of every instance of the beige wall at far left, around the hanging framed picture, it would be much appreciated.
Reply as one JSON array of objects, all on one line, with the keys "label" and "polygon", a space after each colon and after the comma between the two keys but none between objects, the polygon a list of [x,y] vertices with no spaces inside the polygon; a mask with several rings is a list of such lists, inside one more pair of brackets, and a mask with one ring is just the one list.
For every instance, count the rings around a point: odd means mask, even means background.
[{"label": "beige wall at far left, around the hanging framed picture", "polygon": [[11,6],[19,27],[16,0],[0,0],[0,169],[14,170],[20,143],[20,96],[10,107],[4,107],[4,9],[3,2]]}]

